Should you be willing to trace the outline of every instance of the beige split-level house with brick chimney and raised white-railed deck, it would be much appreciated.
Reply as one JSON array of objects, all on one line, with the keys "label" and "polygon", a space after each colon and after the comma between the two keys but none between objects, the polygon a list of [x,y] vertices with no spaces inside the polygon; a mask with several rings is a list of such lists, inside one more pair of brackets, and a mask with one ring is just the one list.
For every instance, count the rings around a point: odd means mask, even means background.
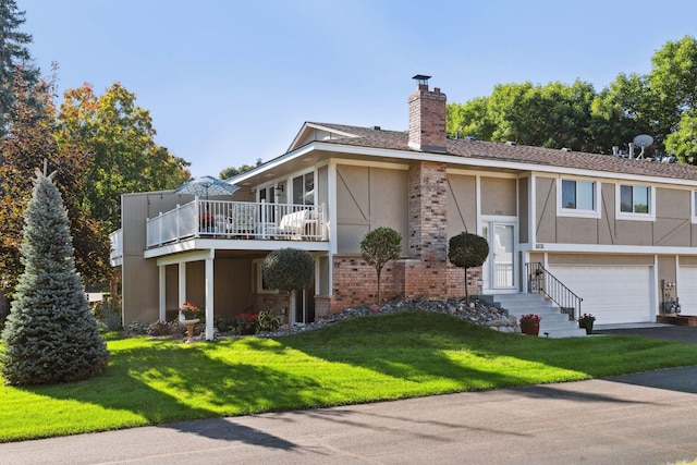
[{"label": "beige split-level house with brick chimney and raised white-railed deck", "polygon": [[[408,112],[405,132],[307,122],[285,154],[229,180],[231,196],[123,195],[112,264],[124,322],[173,319],[188,299],[212,334],[212,317],[271,309],[303,323],[372,303],[360,241],[379,227],[403,237],[386,298],[462,297],[466,282],[476,294],[570,290],[578,299],[559,306],[599,323],[656,321],[676,297],[697,315],[697,167],[449,138],[445,95],[426,79]],[[448,261],[464,231],[490,245],[466,279]],[[290,304],[260,271],[283,247],[315,259],[314,284]]]}]

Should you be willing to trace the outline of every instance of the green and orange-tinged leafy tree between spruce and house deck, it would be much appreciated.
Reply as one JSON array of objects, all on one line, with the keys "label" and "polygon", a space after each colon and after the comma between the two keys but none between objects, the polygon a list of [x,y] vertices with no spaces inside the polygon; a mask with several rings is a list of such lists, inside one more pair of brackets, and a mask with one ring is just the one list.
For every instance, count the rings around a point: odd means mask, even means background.
[{"label": "green and orange-tinged leafy tree between spruce and house deck", "polygon": [[150,113],[119,83],[102,96],[89,84],[65,91],[59,121],[59,146],[89,154],[83,201],[105,235],[120,227],[121,194],[174,188],[189,178],[189,163],[155,143]]}]

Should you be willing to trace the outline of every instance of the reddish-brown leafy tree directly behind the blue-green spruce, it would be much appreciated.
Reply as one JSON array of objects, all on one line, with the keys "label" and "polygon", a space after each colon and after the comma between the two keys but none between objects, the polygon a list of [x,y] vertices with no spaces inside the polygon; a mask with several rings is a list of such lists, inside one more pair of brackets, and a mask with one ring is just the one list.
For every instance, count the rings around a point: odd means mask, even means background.
[{"label": "reddish-brown leafy tree directly behind the blue-green spruce", "polygon": [[[57,185],[65,193],[70,208],[70,227],[75,237],[75,260],[84,279],[96,282],[108,269],[108,244],[97,223],[82,208],[88,158],[83,151],[63,146],[53,138],[56,110],[52,102],[53,81],[28,86],[17,77],[14,118],[7,137],[0,139],[0,292],[12,296],[22,272],[20,245],[24,210],[32,194],[33,171],[46,160],[51,170],[60,169]],[[30,105],[29,102],[39,105]],[[0,314],[0,320],[7,314]]]}]

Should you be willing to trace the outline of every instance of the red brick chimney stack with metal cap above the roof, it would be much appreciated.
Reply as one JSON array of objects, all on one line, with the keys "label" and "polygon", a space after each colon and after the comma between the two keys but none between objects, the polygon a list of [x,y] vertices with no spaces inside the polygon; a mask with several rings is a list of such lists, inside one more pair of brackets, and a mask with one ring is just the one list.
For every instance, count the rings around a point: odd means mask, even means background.
[{"label": "red brick chimney stack with metal cap above the roof", "polygon": [[409,147],[420,151],[445,154],[445,94],[428,89],[431,76],[417,74],[418,83],[409,96]]}]

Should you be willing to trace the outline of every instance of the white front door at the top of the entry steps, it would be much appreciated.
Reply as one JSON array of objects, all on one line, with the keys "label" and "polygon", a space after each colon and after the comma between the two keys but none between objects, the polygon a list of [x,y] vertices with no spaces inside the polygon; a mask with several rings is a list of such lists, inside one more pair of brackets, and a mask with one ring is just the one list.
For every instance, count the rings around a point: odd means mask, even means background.
[{"label": "white front door at the top of the entry steps", "polygon": [[485,289],[515,289],[515,225],[485,223],[481,235],[489,243],[489,258],[482,270]]}]

